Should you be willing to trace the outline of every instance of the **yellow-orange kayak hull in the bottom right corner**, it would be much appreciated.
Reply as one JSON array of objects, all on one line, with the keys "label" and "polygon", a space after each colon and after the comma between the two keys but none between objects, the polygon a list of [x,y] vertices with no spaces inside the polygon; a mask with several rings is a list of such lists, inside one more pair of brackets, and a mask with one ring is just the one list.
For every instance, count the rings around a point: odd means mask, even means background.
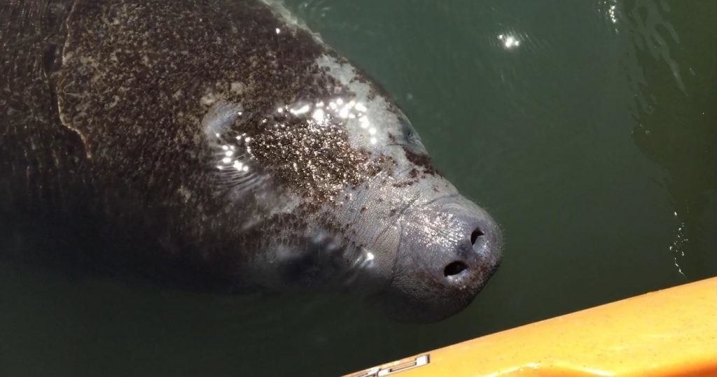
[{"label": "yellow-orange kayak hull in the bottom right corner", "polygon": [[350,377],[717,376],[717,277],[468,340]]}]

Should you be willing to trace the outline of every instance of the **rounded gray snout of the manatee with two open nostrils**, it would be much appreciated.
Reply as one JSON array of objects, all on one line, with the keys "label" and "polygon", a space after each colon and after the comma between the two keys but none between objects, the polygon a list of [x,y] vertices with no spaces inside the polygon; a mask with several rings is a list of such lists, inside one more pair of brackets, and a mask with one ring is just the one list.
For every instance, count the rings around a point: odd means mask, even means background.
[{"label": "rounded gray snout of the manatee with two open nostrils", "polygon": [[391,283],[374,297],[405,322],[464,309],[500,264],[503,239],[488,213],[460,195],[407,211]]}]

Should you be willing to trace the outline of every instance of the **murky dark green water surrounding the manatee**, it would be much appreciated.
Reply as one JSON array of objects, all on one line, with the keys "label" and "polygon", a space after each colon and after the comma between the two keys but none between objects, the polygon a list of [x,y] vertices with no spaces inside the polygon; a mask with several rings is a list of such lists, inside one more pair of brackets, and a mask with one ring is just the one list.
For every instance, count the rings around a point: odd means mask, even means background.
[{"label": "murky dark green water surrounding the manatee", "polygon": [[314,0],[505,232],[465,312],[217,297],[0,264],[3,376],[331,376],[717,275],[717,1]]}]

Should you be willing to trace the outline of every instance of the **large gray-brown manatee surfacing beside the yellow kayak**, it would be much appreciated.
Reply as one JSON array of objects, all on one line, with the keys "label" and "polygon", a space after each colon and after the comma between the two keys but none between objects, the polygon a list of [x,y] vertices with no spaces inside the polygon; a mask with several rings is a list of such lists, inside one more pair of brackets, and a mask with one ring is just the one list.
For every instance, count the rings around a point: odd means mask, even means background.
[{"label": "large gray-brown manatee surfacing beside the yellow kayak", "polygon": [[280,5],[2,0],[0,33],[4,213],[102,234],[85,259],[213,291],[348,290],[401,320],[460,311],[498,267],[490,216]]}]

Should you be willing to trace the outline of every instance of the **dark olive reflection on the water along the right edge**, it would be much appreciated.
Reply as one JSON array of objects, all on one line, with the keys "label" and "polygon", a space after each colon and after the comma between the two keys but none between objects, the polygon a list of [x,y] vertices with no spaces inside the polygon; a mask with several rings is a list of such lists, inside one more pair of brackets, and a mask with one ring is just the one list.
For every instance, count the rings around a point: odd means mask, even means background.
[{"label": "dark olive reflection on the water along the right edge", "polygon": [[[625,64],[641,68],[639,76],[631,76],[637,123],[632,139],[668,174],[663,185],[671,196],[674,221],[667,247],[675,267],[688,277],[703,275],[708,267],[698,261],[706,250],[699,242],[714,230],[701,223],[716,205],[711,197],[717,181],[717,36],[683,24],[685,37],[680,38],[669,19],[689,17],[700,25],[717,14],[717,4],[708,2],[693,12],[673,9],[666,1],[625,1],[624,6],[629,21],[625,33],[634,41]],[[688,257],[692,252],[696,255]]]}]

